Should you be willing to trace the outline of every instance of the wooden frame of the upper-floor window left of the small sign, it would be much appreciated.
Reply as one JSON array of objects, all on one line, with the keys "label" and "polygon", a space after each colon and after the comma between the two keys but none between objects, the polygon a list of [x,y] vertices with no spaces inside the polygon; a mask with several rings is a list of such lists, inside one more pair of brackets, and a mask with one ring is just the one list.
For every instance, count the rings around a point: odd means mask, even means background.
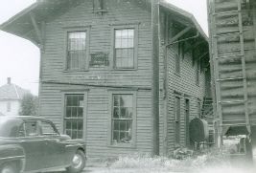
[{"label": "wooden frame of the upper-floor window left of the small sign", "polygon": [[[81,69],[68,69],[68,33],[69,32],[85,32],[86,33],[86,38],[85,38],[85,59],[84,59],[84,67]],[[68,27],[65,29],[65,42],[64,42],[64,48],[65,48],[65,52],[64,52],[64,72],[84,72],[84,71],[88,71],[89,70],[89,58],[90,58],[90,27]]]}]

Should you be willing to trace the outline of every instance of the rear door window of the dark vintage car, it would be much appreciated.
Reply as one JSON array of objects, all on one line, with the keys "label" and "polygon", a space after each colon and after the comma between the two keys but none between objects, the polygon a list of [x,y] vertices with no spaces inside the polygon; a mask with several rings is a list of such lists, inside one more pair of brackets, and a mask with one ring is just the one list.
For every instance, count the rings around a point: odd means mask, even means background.
[{"label": "rear door window of the dark vintage car", "polygon": [[34,137],[40,135],[37,121],[25,121],[19,128],[19,137]]}]

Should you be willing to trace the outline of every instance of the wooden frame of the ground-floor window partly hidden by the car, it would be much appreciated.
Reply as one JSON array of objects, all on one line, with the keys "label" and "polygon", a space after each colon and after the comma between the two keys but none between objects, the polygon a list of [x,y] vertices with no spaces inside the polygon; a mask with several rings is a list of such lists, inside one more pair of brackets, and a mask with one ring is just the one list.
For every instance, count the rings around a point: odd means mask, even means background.
[{"label": "wooden frame of the ground-floor window partly hidden by the car", "polygon": [[61,91],[61,102],[62,102],[62,109],[61,109],[61,120],[60,120],[60,128],[59,128],[59,131],[62,133],[62,134],[65,134],[65,128],[64,128],[64,123],[65,123],[65,97],[66,95],[83,95],[83,115],[82,115],[82,125],[83,125],[83,129],[82,129],[82,140],[85,140],[86,141],[86,133],[87,133],[87,126],[86,126],[86,122],[87,122],[87,105],[88,105],[88,91],[87,90],[81,90],[80,91]]}]

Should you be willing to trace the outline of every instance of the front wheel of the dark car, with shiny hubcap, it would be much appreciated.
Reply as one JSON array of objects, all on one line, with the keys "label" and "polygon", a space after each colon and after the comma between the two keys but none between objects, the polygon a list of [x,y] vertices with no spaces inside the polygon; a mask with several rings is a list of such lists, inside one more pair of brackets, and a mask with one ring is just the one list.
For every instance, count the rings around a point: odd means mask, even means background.
[{"label": "front wheel of the dark car, with shiny hubcap", "polygon": [[73,156],[72,164],[66,168],[68,173],[79,173],[83,170],[85,166],[85,154],[78,150]]}]

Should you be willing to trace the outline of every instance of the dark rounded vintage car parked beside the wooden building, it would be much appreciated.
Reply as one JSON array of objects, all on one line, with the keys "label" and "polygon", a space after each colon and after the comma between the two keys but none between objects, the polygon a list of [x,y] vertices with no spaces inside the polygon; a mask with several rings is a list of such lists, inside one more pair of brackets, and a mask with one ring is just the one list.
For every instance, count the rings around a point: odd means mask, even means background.
[{"label": "dark rounded vintage car parked beside the wooden building", "polygon": [[45,172],[66,168],[81,172],[85,143],[60,135],[48,119],[0,117],[0,173]]}]

